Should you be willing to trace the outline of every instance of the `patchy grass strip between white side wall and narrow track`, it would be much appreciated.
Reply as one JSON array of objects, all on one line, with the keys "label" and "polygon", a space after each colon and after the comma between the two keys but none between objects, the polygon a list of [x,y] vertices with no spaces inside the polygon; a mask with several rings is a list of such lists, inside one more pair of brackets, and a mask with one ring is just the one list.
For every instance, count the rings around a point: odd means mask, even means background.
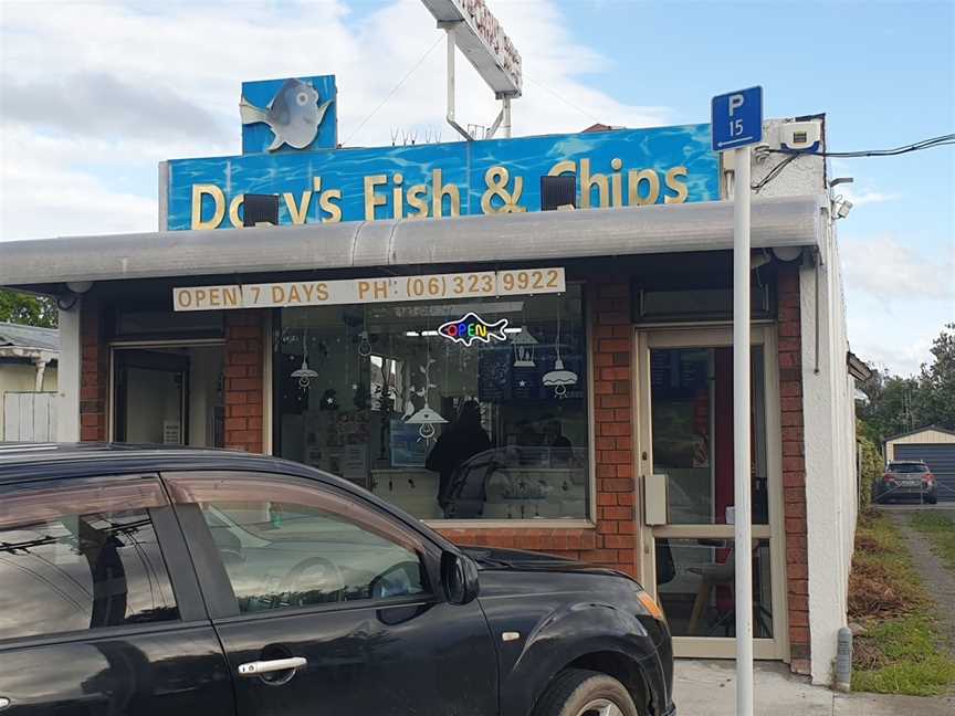
[{"label": "patchy grass strip between white side wall and narrow track", "polygon": [[852,688],[937,696],[955,686],[955,660],[940,646],[934,606],[902,534],[884,514],[859,520],[849,578],[849,615],[863,628]]}]

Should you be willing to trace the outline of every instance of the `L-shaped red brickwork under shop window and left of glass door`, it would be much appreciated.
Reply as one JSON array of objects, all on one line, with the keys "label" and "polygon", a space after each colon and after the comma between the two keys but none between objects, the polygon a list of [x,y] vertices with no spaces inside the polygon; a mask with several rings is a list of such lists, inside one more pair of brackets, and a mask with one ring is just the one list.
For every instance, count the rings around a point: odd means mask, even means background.
[{"label": "L-shaped red brickwork under shop window and left of glass door", "polygon": [[534,549],[636,576],[631,406],[633,340],[629,285],[626,281],[604,281],[597,284],[590,298],[595,319],[590,344],[595,396],[596,528],[442,528],[440,531],[455,543]]}]

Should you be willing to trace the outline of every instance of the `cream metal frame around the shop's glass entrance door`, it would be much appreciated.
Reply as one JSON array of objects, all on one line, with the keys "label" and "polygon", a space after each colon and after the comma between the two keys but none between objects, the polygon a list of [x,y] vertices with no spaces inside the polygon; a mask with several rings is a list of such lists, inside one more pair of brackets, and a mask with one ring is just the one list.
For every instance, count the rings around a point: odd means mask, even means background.
[{"label": "cream metal frame around the shop's glass entrance door", "polygon": [[[733,328],[723,326],[638,327],[634,330],[633,474],[637,480],[637,533],[641,551],[640,581],[657,598],[655,538],[660,537],[732,537],[732,525],[690,526],[646,524],[643,506],[643,476],[652,470],[652,423],[650,394],[650,350],[652,348],[723,348],[733,346]],[[763,376],[766,412],[766,472],[769,501],[769,524],[754,525],[753,537],[769,540],[770,594],[773,599],[773,638],[754,639],[756,659],[789,662],[789,609],[786,588],[786,531],[783,498],[783,439],[779,404],[779,366],[777,336],[773,324],[755,324],[751,329],[751,345],[763,346]],[[646,455],[646,457],[644,457]],[[674,636],[676,656],[734,659],[735,638]]]}]

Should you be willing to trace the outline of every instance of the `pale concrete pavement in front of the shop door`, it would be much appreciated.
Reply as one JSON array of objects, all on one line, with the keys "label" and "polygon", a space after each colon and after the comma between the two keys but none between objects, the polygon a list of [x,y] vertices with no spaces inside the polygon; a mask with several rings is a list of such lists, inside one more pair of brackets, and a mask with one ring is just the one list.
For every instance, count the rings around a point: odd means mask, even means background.
[{"label": "pale concrete pavement in front of the shop door", "polygon": [[[680,716],[735,716],[732,661],[676,661],[673,699]],[[794,676],[785,664],[757,662],[756,716],[952,716],[955,695],[940,698],[836,694]]]}]

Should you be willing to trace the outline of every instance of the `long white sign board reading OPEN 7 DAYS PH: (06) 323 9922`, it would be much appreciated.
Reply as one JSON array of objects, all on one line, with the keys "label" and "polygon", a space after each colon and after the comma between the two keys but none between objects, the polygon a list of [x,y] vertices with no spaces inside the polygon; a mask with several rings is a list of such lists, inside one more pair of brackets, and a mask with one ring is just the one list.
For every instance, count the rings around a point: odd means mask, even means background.
[{"label": "long white sign board reading OPEN 7 DAYS PH: (06) 323 9922", "polygon": [[443,301],[564,293],[564,268],[188,286],[172,289],[175,310],[223,310],[358,303]]}]

